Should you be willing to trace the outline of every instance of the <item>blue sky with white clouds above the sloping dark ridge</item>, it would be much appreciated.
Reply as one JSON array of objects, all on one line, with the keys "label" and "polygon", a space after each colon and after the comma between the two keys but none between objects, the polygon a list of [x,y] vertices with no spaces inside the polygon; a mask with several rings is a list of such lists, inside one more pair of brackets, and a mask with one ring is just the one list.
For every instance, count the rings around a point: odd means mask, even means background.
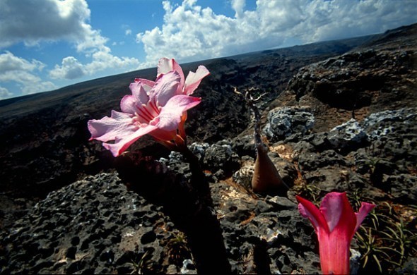
[{"label": "blue sky with white clouds above the sloping dark ridge", "polygon": [[[417,22],[407,0],[0,0],[0,99]],[[129,85],[129,83],[127,83]]]}]

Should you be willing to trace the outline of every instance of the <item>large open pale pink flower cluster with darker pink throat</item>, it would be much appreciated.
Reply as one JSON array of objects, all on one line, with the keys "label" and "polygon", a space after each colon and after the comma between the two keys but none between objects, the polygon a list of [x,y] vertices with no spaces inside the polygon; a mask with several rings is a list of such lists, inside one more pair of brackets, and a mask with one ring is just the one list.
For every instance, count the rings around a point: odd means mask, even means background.
[{"label": "large open pale pink flower cluster with darker pink throat", "polygon": [[90,140],[102,141],[114,157],[143,135],[151,135],[167,146],[184,142],[187,110],[201,102],[190,94],[209,74],[206,67],[199,66],[196,73],[189,72],[184,79],[182,68],[174,59],[160,59],[155,82],[139,78],[131,83],[131,94],[120,102],[122,112],[112,110],[110,118],[88,121]]}]

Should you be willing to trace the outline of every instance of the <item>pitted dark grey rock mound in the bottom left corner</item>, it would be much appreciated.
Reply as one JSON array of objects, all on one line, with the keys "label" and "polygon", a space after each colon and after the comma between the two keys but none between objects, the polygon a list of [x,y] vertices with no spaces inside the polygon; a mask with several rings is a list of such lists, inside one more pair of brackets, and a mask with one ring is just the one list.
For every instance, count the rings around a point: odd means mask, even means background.
[{"label": "pitted dark grey rock mound in the bottom left corner", "polygon": [[2,272],[165,273],[177,234],[161,207],[101,173],[50,193],[2,233]]}]

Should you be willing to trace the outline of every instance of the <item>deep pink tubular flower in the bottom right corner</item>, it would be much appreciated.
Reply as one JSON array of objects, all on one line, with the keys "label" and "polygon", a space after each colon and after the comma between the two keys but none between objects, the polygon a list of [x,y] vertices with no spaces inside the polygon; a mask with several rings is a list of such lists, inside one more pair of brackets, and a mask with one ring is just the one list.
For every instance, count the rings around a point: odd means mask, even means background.
[{"label": "deep pink tubular flower in the bottom right corner", "polygon": [[325,195],[320,209],[303,197],[295,197],[301,215],[310,219],[317,233],[323,274],[349,274],[351,240],[375,204],[362,202],[359,212],[355,213],[346,193]]}]

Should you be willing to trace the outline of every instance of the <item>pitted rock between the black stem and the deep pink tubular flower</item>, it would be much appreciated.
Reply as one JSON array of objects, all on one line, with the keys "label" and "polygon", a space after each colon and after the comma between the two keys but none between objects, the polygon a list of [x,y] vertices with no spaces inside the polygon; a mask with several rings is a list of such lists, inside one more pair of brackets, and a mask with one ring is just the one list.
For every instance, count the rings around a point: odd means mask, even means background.
[{"label": "pitted rock between the black stem and the deep pink tubular flower", "polygon": [[[213,200],[235,272],[265,268],[274,274],[301,269],[318,273],[319,258],[312,252],[313,240],[307,237],[313,229],[298,213],[297,204],[285,197],[257,200],[225,182],[215,183],[211,188],[213,194],[221,194],[213,195]],[[297,255],[290,247],[304,252]],[[261,254],[258,258],[254,257],[257,253]],[[267,267],[265,262],[269,262]]]}]

